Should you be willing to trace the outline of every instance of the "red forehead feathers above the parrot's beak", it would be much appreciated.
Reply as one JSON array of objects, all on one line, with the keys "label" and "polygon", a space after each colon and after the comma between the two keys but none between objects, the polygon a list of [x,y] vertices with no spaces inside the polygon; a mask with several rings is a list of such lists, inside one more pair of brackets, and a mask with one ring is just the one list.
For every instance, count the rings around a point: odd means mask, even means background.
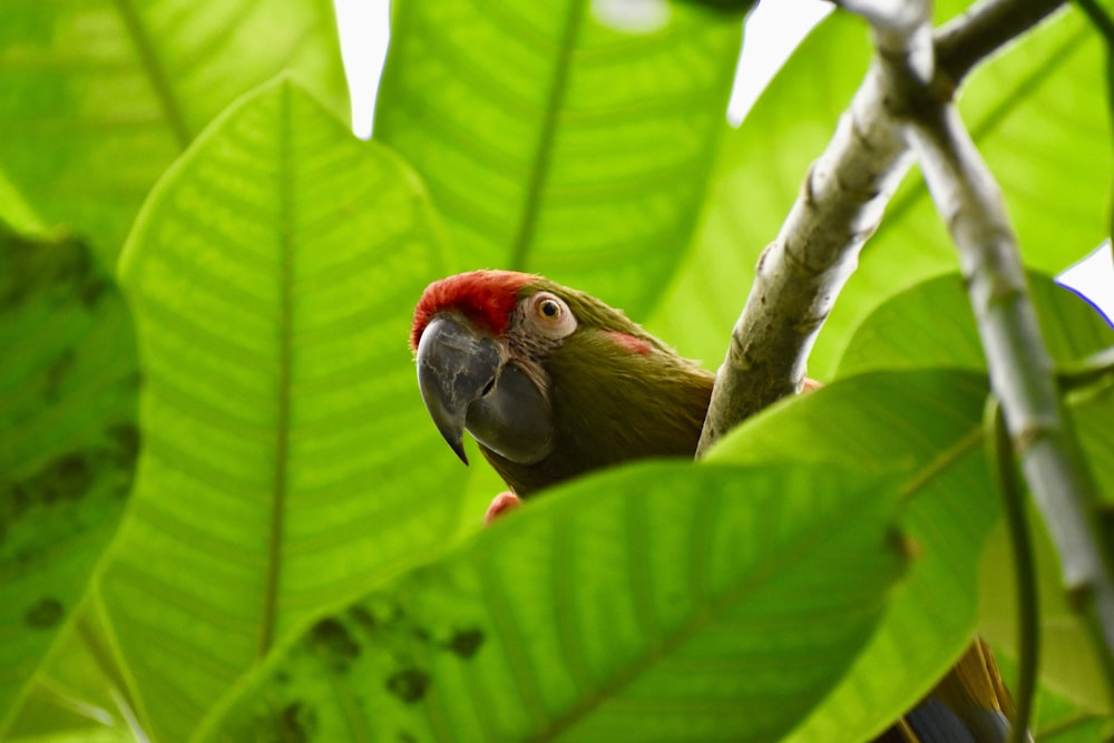
[{"label": "red forehead feathers above the parrot's beak", "polygon": [[456,310],[491,333],[501,334],[518,303],[519,290],[535,278],[517,271],[471,271],[433,282],[414,307],[410,350],[418,350],[426,325],[446,310]]}]

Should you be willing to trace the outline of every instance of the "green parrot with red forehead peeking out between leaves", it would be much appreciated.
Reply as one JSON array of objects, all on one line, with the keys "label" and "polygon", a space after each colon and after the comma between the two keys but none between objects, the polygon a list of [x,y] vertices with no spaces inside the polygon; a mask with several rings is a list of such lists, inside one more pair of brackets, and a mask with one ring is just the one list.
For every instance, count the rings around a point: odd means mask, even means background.
[{"label": "green parrot with red forehead peeking out between leaves", "polygon": [[[544,276],[479,270],[427,286],[410,332],[433,424],[468,465],[463,433],[510,488],[488,519],[558,482],[649,457],[692,459],[715,374],[619,310]],[[805,380],[804,389],[818,382]],[[1005,741],[1013,706],[976,638],[876,741]]]}]

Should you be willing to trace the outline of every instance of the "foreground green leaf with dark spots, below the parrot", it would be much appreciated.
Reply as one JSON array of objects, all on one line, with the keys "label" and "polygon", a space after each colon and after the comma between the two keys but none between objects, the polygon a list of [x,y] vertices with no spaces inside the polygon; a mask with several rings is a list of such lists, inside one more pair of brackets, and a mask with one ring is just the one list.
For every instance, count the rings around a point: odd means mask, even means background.
[{"label": "foreground green leaf with dark spots, below the parrot", "polygon": [[643,463],[317,622],[204,740],[775,740],[870,634],[896,498],[832,468]]}]

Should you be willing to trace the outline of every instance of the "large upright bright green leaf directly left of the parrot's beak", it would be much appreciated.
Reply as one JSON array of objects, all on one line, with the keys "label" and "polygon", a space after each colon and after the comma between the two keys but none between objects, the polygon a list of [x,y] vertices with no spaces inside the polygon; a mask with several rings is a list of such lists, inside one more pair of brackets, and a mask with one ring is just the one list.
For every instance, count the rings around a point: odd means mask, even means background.
[{"label": "large upright bright green leaf directly left of the parrot's beak", "polygon": [[287,79],[219,117],[145,205],[120,267],[144,449],[100,592],[158,737],[456,527],[459,470],[428,457],[442,444],[405,344],[444,266],[431,218],[397,156]]}]

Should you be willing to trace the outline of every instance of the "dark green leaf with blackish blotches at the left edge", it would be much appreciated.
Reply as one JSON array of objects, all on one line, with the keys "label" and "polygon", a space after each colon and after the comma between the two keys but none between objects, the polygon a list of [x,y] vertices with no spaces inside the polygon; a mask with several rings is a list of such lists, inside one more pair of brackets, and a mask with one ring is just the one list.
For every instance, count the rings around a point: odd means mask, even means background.
[{"label": "dark green leaf with blackish blotches at the left edge", "polygon": [[116,530],[135,468],[131,316],[91,251],[0,226],[0,736]]}]

